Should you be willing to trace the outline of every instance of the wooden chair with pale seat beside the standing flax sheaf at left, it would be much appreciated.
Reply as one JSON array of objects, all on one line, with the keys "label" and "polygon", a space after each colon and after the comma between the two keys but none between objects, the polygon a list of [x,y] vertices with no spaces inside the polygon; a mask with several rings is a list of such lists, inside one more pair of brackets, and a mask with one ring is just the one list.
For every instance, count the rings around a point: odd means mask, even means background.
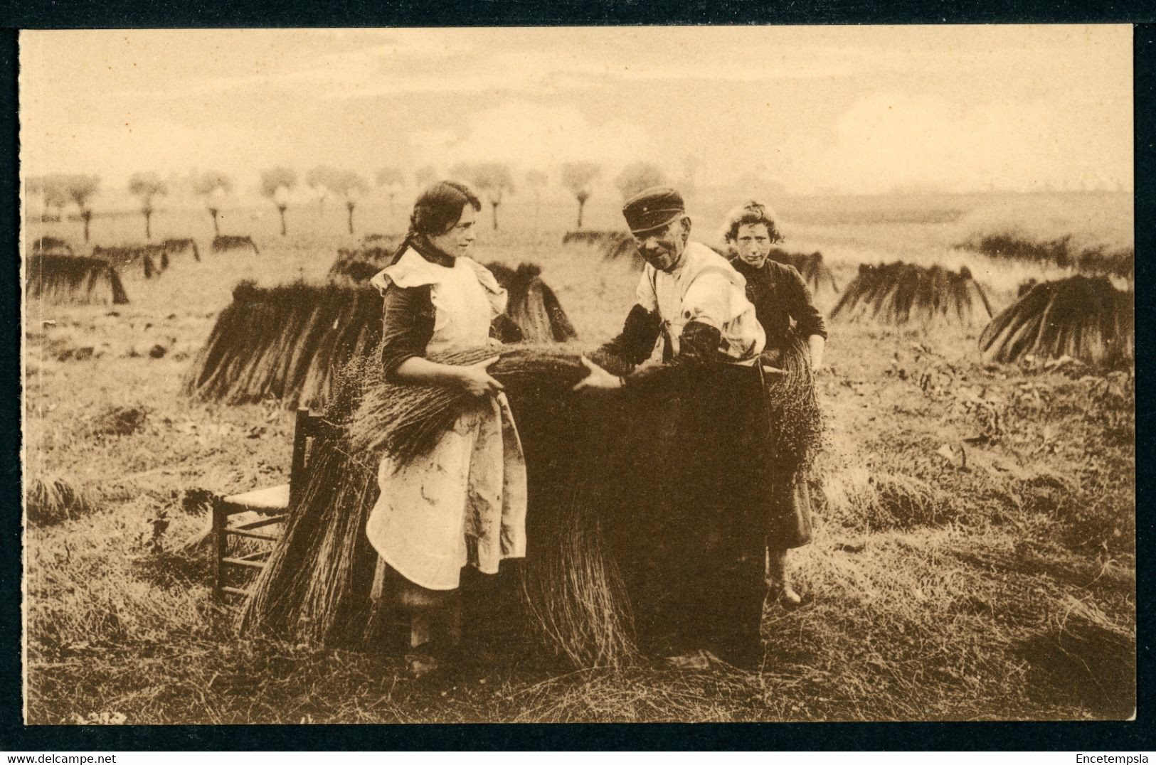
[{"label": "wooden chair with pale seat beside the standing flax sheaf at left", "polygon": [[[213,507],[213,597],[222,600],[224,595],[249,595],[249,591],[225,584],[230,570],[260,571],[268,563],[272,549],[258,550],[244,555],[229,555],[229,537],[238,536],[251,540],[276,542],[280,533],[274,533],[274,526],[284,523],[289,507],[301,499],[305,488],[306,461],[310,453],[310,439],[333,437],[336,428],[320,415],[310,414],[309,409],[297,409],[294,422],[292,462],[289,466],[289,483],[282,483],[265,489],[254,489],[239,495],[212,499]],[[255,513],[257,520],[247,520],[230,525],[230,519],[242,513]]]}]

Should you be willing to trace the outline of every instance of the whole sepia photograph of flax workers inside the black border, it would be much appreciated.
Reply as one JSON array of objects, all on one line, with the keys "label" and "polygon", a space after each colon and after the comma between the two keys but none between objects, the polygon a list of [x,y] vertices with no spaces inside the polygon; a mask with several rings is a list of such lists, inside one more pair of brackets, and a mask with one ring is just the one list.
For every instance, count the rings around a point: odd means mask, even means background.
[{"label": "whole sepia photograph of flax workers inside the black border", "polygon": [[1135,718],[1132,25],[18,46],[25,725]]}]

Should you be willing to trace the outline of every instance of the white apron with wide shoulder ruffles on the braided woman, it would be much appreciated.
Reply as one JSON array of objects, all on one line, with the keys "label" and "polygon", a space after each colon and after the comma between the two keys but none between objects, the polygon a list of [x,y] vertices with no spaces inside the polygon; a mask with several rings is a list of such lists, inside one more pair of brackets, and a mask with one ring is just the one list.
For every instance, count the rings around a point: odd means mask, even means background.
[{"label": "white apron with wide shoulder ruffles on the braided woman", "polygon": [[[487,346],[490,320],[505,310],[505,290],[469,258],[447,268],[410,250],[372,280],[378,289],[390,282],[430,285],[428,352]],[[365,534],[381,560],[415,585],[454,589],[462,566],[492,574],[503,558],[526,555],[526,462],[505,394],[480,400],[413,463],[386,455],[378,487]]]}]

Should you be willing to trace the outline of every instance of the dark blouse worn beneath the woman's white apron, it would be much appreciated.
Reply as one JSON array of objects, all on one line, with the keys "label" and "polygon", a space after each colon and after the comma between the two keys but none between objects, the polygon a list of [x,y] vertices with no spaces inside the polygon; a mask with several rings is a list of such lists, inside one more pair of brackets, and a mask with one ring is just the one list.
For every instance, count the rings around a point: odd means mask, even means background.
[{"label": "dark blouse worn beneath the woman's white apron", "polygon": [[[414,248],[425,260],[446,268],[453,267],[453,259],[439,253],[421,252]],[[384,318],[381,326],[381,365],[385,378],[393,379],[401,363],[414,356],[425,356],[425,347],[433,336],[433,300],[430,298],[431,285],[398,287],[390,284],[385,290]],[[502,342],[521,340],[521,332],[509,317],[498,315],[490,326],[490,336]]]}]

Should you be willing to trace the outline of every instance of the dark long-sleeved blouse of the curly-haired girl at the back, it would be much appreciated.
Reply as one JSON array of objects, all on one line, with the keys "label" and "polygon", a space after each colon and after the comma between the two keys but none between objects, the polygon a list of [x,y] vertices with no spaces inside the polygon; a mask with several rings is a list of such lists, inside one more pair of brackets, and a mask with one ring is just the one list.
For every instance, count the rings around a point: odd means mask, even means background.
[{"label": "dark long-sleeved blouse of the curly-haired girl at the back", "polygon": [[748,266],[741,258],[731,261],[747,280],[747,299],[755,304],[758,324],[766,332],[766,347],[778,348],[791,332],[800,337],[820,335],[827,339],[827,322],[810,298],[810,290],[792,266],[770,258],[762,268]]}]

